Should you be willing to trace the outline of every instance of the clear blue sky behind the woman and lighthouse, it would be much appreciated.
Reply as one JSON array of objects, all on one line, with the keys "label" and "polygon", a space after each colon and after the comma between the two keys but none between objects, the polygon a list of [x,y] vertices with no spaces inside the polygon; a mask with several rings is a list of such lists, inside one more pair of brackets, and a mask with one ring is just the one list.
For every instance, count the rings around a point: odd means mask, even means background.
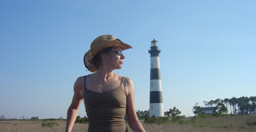
[{"label": "clear blue sky behind the woman and lighthouse", "polygon": [[[255,96],[256,1],[1,0],[0,115],[66,118],[83,55],[99,35],[133,46],[123,68],[135,107],[149,109],[153,39],[161,49],[164,111]],[[85,106],[80,105],[80,116]]]}]

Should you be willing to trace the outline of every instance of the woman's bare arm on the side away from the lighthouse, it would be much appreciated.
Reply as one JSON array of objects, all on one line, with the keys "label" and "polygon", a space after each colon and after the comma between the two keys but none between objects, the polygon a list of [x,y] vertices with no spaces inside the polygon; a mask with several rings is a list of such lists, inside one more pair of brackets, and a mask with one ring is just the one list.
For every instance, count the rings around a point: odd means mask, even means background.
[{"label": "woman's bare arm on the side away from the lighthouse", "polygon": [[83,90],[84,90],[84,77],[78,77],[74,84],[74,96],[72,102],[67,110],[67,124],[65,132],[71,132],[72,127],[76,121],[76,116],[78,114],[80,103],[83,100]]}]

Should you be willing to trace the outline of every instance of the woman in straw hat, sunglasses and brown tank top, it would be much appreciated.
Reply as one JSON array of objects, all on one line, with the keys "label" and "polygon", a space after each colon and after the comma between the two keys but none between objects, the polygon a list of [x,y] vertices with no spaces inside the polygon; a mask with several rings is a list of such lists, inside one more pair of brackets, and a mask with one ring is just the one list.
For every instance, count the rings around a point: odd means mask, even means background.
[{"label": "woman in straw hat, sunglasses and brown tank top", "polygon": [[132,80],[113,73],[113,70],[122,68],[125,57],[121,52],[128,48],[132,47],[112,35],[101,35],[92,41],[91,49],[85,53],[84,63],[94,73],[78,77],[74,84],[66,131],[71,131],[82,100],[89,119],[89,132],[127,131],[125,114],[133,131],[144,131],[135,111]]}]

